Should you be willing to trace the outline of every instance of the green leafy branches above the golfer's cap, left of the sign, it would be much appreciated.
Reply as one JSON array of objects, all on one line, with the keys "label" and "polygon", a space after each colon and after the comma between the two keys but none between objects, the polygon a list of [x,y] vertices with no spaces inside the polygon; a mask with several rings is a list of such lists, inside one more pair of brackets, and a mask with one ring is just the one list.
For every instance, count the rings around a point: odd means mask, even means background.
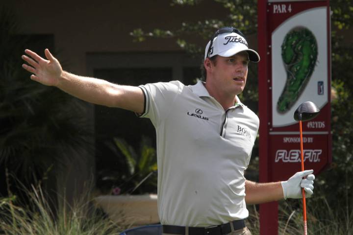
[{"label": "green leafy branches above the golfer's cap, left of the sign", "polygon": [[[171,5],[181,5],[195,7],[203,0],[173,0]],[[195,54],[203,53],[204,45],[192,43],[190,37],[196,36],[205,42],[213,35],[213,33],[223,26],[235,26],[245,35],[256,33],[257,28],[257,0],[214,0],[217,4],[221,4],[225,8],[224,19],[212,19],[210,16],[207,20],[197,22],[182,22],[180,28],[176,30],[156,28],[151,32],[145,32],[143,29],[134,29],[130,35],[134,37],[134,41],[143,42],[147,38],[170,38],[176,39],[177,45],[185,49],[185,51]]]}]

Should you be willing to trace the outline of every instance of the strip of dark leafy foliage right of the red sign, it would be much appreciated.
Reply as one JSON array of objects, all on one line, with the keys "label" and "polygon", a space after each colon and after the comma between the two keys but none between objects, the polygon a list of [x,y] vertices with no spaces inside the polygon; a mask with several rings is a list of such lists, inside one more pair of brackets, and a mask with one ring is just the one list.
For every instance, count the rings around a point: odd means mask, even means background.
[{"label": "strip of dark leafy foliage right of the red sign", "polygon": [[343,209],[349,217],[353,208],[353,46],[345,37],[353,31],[353,6],[351,0],[330,1],[330,6],[332,164],[318,176],[316,190],[326,196],[331,208]]}]

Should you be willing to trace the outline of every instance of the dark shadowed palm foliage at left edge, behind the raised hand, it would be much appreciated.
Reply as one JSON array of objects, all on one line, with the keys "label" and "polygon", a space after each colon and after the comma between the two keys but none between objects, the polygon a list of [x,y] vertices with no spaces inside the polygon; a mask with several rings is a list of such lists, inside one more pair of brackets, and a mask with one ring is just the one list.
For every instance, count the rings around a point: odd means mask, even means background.
[{"label": "dark shadowed palm foliage at left edge, behind the raised hand", "polygon": [[7,168],[27,185],[49,173],[55,184],[55,171],[89,149],[90,128],[81,102],[30,80],[21,59],[30,40],[18,29],[11,10],[0,9],[1,171]]}]

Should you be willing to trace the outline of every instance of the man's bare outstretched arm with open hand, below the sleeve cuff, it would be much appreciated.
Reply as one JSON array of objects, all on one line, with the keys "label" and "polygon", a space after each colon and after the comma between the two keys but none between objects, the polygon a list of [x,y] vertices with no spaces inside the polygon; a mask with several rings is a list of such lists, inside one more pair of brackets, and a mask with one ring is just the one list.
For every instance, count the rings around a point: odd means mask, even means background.
[{"label": "man's bare outstretched arm with open hand, below the sleeve cuff", "polygon": [[142,113],[144,95],[140,88],[116,85],[105,80],[78,76],[63,71],[59,61],[45,49],[47,59],[26,49],[22,59],[26,71],[33,73],[30,78],[47,86],[56,86],[64,92],[90,103],[118,107]]}]

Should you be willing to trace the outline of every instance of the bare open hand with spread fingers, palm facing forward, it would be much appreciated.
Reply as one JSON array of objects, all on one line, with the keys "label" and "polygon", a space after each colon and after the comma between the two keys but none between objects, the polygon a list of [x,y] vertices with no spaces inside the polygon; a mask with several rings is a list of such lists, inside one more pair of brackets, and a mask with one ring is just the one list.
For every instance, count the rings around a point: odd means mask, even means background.
[{"label": "bare open hand with spread fingers, palm facing forward", "polygon": [[30,78],[47,86],[57,86],[61,77],[62,68],[59,61],[52,56],[49,49],[45,49],[44,53],[48,60],[43,59],[35,52],[26,49],[22,55],[22,59],[29,65],[23,64],[22,67],[33,73]]}]

